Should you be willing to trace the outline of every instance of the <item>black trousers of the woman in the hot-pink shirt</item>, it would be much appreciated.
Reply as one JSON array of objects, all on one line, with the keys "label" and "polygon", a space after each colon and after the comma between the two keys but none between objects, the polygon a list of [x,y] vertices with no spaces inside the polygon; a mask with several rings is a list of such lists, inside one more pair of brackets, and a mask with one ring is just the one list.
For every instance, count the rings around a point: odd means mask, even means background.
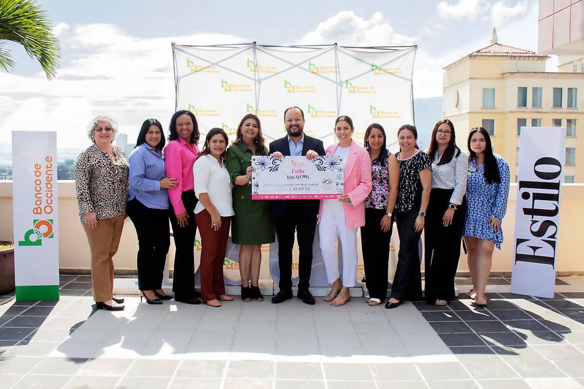
[{"label": "black trousers of the woman in the hot-pink shirt", "polygon": [[194,297],[194,234],[197,232],[194,206],[199,201],[194,195],[194,190],[183,192],[180,198],[189,218],[188,224],[180,227],[171,206],[170,217],[176,246],[172,291],[179,299],[192,299]]}]

